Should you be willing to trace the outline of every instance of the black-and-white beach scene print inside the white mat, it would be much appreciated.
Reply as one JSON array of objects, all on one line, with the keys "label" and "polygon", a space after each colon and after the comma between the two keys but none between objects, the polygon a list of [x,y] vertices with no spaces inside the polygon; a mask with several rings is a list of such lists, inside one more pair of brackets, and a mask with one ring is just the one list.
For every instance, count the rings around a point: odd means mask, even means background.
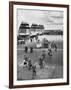
[{"label": "black-and-white beach scene print inside the white mat", "polygon": [[63,78],[63,14],[17,9],[17,80]]}]

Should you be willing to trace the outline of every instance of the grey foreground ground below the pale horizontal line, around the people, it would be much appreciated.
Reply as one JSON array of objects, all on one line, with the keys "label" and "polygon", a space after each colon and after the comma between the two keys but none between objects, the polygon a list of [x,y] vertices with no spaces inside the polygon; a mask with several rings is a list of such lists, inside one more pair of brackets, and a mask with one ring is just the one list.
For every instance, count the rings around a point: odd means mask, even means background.
[{"label": "grey foreground ground below the pale horizontal line, around the people", "polygon": [[[41,54],[42,49],[34,49],[34,52],[31,54],[27,53],[32,59],[32,63],[36,64],[36,76],[34,79],[53,79],[53,78],[62,78],[63,77],[63,50],[58,49],[57,52],[52,50],[53,56],[48,56],[48,50],[46,50],[46,59],[45,66],[43,69],[40,69],[38,65],[38,58]],[[24,49],[18,49],[17,51],[17,79],[18,80],[31,80],[32,79],[32,70],[23,68],[23,58],[24,58]]]}]

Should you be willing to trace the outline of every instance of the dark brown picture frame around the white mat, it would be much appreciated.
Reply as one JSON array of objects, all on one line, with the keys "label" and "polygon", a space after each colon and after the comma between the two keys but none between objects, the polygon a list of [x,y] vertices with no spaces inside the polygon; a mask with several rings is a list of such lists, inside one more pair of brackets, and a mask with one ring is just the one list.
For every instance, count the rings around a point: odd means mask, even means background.
[{"label": "dark brown picture frame around the white mat", "polygon": [[[28,6],[43,6],[43,7],[58,7],[67,9],[67,82],[59,83],[43,83],[43,84],[26,84],[26,85],[14,85],[14,65],[13,65],[13,40],[14,40],[14,29],[13,29],[13,18],[14,18],[14,5],[28,5]],[[28,87],[42,87],[42,86],[58,86],[58,85],[69,85],[69,5],[64,4],[49,4],[49,3],[33,3],[33,2],[9,2],[9,88],[28,88]]]}]

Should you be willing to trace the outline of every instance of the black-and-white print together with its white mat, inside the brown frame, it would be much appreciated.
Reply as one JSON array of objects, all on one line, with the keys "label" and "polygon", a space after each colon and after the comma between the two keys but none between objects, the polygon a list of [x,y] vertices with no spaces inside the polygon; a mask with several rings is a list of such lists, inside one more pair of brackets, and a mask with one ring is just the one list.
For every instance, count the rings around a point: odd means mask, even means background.
[{"label": "black-and-white print together with its white mat, inside the brown frame", "polygon": [[67,82],[67,8],[32,5],[13,6],[14,85]]}]

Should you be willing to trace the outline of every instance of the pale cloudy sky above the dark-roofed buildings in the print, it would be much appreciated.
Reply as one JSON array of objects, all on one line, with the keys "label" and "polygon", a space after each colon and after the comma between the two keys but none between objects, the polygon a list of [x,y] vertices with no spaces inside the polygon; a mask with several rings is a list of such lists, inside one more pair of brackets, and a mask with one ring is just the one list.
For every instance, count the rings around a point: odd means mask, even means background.
[{"label": "pale cloudy sky above the dark-roofed buildings in the print", "polygon": [[21,22],[27,22],[44,25],[45,30],[63,30],[63,11],[18,9],[17,22],[18,29]]}]

